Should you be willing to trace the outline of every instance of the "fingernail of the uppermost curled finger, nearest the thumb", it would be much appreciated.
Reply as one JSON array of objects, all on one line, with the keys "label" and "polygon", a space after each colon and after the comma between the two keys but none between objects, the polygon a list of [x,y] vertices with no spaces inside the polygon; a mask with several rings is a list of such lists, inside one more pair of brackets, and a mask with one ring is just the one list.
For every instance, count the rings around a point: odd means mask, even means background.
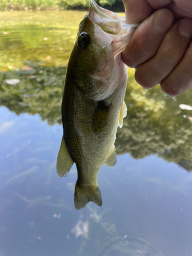
[{"label": "fingernail of the uppermost curled finger, nearest the thumb", "polygon": [[164,33],[170,28],[174,20],[173,14],[168,10],[159,10],[154,19],[154,28],[161,33]]}]

